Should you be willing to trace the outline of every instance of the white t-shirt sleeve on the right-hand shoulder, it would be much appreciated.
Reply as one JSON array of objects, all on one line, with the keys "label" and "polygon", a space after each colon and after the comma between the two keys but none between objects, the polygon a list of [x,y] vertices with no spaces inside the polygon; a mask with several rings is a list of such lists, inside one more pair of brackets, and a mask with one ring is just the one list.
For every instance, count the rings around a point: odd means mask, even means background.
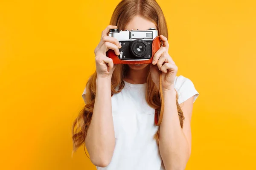
[{"label": "white t-shirt sleeve on the right-hand shoulder", "polygon": [[194,101],[198,98],[199,93],[195,89],[193,82],[182,75],[175,79],[175,89],[178,93],[178,103],[185,102],[190,97],[194,96]]}]

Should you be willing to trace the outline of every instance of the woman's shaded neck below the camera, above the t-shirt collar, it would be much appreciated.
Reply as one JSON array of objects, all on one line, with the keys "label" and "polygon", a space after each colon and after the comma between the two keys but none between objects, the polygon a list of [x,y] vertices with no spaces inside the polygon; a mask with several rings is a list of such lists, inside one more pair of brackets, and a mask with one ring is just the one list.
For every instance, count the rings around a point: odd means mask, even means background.
[{"label": "woman's shaded neck below the camera, above the t-shirt collar", "polygon": [[141,70],[134,70],[128,68],[128,72],[125,77],[125,81],[131,84],[143,84],[147,80],[147,74],[150,70],[150,65],[147,65]]}]

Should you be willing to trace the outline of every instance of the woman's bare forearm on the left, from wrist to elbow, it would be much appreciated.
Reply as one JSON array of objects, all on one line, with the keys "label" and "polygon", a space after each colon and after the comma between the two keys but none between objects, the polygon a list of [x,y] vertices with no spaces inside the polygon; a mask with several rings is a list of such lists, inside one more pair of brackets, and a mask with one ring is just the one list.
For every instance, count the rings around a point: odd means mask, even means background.
[{"label": "woman's bare forearm on the left, from wrist to elbow", "polygon": [[112,158],[115,136],[111,107],[111,79],[97,78],[92,121],[88,128],[86,147],[97,166],[106,166]]}]

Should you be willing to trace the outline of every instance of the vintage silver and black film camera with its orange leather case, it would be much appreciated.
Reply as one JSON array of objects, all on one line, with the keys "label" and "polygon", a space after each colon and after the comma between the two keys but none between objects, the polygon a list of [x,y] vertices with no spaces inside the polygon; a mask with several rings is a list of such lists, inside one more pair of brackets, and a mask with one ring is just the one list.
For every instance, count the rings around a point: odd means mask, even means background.
[{"label": "vintage silver and black film camera with its orange leather case", "polygon": [[118,56],[111,49],[106,52],[107,57],[112,58],[114,64],[151,63],[161,44],[158,31],[155,28],[137,29],[137,31],[111,29],[108,36],[116,38],[122,45],[119,48],[120,55]]}]

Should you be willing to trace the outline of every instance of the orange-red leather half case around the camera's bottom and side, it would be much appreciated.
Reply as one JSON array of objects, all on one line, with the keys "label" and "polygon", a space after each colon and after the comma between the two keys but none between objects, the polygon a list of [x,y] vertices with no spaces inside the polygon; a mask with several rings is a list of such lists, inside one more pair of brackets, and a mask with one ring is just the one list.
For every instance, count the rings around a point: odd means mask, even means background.
[{"label": "orange-red leather half case around the camera's bottom and side", "polygon": [[115,54],[115,52],[111,49],[109,49],[106,52],[106,55],[107,55],[107,57],[110,57],[113,59],[114,64],[149,64],[152,62],[153,56],[157,52],[157,50],[160,48],[160,46],[161,46],[161,40],[160,40],[160,37],[157,36],[154,38],[154,40],[152,42],[152,57],[151,57],[151,59],[144,60],[144,61],[121,60],[118,58],[118,56]]}]

